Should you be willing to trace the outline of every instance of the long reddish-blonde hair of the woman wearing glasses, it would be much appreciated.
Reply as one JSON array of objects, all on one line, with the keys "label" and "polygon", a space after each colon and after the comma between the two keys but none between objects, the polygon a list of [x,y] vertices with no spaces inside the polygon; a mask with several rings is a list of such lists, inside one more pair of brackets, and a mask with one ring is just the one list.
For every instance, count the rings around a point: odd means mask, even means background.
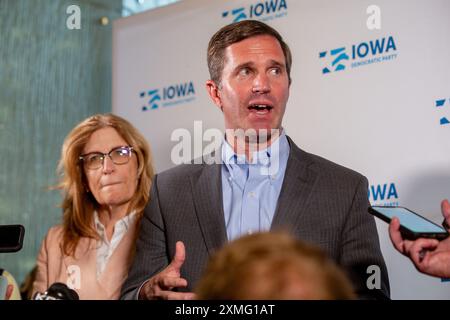
[{"label": "long reddish-blonde hair of the woman wearing glasses", "polygon": [[98,239],[93,225],[93,212],[98,203],[87,192],[87,181],[79,157],[91,135],[102,128],[114,128],[133,147],[138,160],[138,185],[130,201],[128,211],[136,211],[137,223],[142,217],[145,205],[150,200],[150,187],[154,175],[150,147],[144,136],[127,120],[113,114],[97,114],[78,124],[66,137],[58,165],[63,201],[63,242],[66,255],[74,255],[82,237]]}]

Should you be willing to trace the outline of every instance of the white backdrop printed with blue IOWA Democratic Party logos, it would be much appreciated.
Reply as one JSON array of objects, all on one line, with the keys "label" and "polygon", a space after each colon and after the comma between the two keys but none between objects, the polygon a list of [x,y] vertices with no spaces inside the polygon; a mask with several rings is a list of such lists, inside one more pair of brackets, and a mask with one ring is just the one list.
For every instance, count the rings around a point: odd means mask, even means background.
[{"label": "white backdrop printed with blue IOWA Democratic Party logos", "polygon": [[[293,52],[287,134],[367,176],[372,204],[440,223],[450,197],[449,12],[448,0],[184,0],[119,19],[113,112],[146,135],[157,171],[175,166],[180,143],[223,129],[205,90],[210,37],[233,21],[267,22]],[[183,156],[201,155],[194,149]],[[377,227],[392,298],[450,298],[450,282],[418,273],[387,224]]]}]

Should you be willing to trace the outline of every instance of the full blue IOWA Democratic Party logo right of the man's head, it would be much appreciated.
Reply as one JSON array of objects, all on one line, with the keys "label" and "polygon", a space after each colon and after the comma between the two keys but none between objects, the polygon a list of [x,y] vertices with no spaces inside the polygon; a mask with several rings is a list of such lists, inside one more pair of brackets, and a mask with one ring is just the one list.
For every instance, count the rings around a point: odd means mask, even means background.
[{"label": "full blue IOWA Democratic Party logo right of the man's head", "polygon": [[328,50],[319,52],[319,59],[328,61],[328,65],[322,68],[322,74],[345,70],[348,62],[351,62],[351,68],[357,68],[397,58],[397,46],[393,36],[353,44],[350,46],[350,52],[347,52],[346,48],[342,46],[329,50],[329,55]]}]

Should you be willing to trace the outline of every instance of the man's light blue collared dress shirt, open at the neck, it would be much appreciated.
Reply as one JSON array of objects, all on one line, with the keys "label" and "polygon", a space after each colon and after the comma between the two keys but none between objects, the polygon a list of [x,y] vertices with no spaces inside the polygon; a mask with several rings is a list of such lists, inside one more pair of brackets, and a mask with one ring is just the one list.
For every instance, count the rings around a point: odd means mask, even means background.
[{"label": "man's light blue collared dress shirt, open at the neck", "polygon": [[281,135],[267,149],[255,151],[252,163],[222,144],[222,192],[228,240],[268,231],[277,207],[289,157],[289,142]]}]

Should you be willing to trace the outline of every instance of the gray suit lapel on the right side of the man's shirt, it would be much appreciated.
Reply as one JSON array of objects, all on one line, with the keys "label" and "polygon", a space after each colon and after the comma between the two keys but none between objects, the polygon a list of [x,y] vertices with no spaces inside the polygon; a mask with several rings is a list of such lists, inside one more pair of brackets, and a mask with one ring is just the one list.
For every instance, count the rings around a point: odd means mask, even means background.
[{"label": "gray suit lapel on the right side of the man's shirt", "polygon": [[300,150],[289,137],[288,141],[291,149],[271,230],[296,228],[317,178],[317,172],[310,168],[308,154]]}]

